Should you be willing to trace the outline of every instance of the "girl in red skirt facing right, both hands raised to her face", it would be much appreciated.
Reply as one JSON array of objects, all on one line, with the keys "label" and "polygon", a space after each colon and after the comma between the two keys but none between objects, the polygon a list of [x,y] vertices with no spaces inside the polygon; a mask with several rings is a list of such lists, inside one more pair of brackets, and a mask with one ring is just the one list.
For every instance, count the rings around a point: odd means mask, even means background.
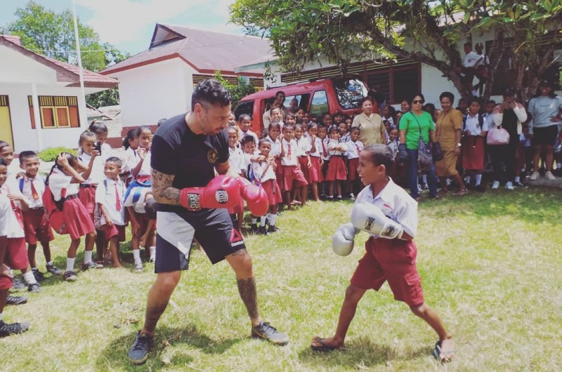
[{"label": "girl in red skirt facing right, both hands raised to her face", "polygon": [[[81,237],[86,236],[86,251],[84,252],[84,265],[82,270],[89,268],[101,268],[92,261],[93,241],[96,239],[96,229],[86,207],[79,199],[79,185],[84,182],[84,178],[79,172],[84,171],[80,161],[72,154],[61,152],[55,165],[48,175],[47,185],[51,190],[55,203],[62,201],[63,220],[65,234],[70,234],[70,246],[68,247],[66,270],[63,279],[75,281],[77,279],[74,272],[74,260],[80,245]],[[94,199],[95,200],[95,199]],[[87,244],[91,242],[91,244]]]}]

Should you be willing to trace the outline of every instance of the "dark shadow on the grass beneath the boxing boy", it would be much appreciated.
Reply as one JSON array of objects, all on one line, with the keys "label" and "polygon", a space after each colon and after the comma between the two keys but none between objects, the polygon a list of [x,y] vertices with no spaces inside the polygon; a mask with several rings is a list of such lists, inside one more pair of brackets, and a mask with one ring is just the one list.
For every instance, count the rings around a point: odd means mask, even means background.
[{"label": "dark shadow on the grass beneath the boxing boy", "polygon": [[369,368],[377,364],[386,364],[393,360],[411,360],[431,355],[431,347],[419,347],[404,352],[390,345],[379,345],[368,338],[358,338],[346,343],[344,350],[333,352],[315,352],[311,347],[299,353],[299,359],[311,366],[341,366],[346,368]]}]

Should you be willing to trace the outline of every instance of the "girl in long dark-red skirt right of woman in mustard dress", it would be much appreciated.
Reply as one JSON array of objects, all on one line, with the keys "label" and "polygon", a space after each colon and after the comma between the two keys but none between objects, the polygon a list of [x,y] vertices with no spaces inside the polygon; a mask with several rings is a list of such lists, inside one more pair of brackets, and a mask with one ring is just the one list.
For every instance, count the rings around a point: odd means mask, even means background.
[{"label": "girl in long dark-red skirt right of woman in mustard dress", "polygon": [[462,119],[462,167],[466,173],[466,185],[470,185],[471,176],[474,175],[474,189],[484,192],[481,185],[482,172],[485,163],[485,138],[488,128],[485,126],[484,117],[479,114],[480,101],[471,99],[469,113]]}]

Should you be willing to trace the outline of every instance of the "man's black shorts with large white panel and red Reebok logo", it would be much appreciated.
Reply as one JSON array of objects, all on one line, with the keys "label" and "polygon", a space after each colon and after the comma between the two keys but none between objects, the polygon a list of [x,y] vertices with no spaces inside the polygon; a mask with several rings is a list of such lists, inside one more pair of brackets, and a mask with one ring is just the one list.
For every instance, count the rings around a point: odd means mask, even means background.
[{"label": "man's black shorts with large white panel and red Reebok logo", "polygon": [[155,272],[188,270],[190,247],[197,239],[212,264],[246,248],[226,209],[157,212]]}]

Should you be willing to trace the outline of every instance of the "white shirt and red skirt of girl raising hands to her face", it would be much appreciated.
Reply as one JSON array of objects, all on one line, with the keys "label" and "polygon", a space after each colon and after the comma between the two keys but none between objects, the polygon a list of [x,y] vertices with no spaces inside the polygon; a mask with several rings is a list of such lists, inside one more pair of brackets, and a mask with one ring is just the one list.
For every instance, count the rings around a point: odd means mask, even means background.
[{"label": "white shirt and red skirt of girl raising hands to her face", "polygon": [[[71,239],[79,239],[96,228],[93,226],[93,215],[90,215],[78,197],[79,185],[70,181],[72,176],[65,175],[63,171],[55,168],[48,178],[48,187],[55,201],[64,199],[63,215],[67,233]],[[96,201],[95,193],[93,200]]]}]

